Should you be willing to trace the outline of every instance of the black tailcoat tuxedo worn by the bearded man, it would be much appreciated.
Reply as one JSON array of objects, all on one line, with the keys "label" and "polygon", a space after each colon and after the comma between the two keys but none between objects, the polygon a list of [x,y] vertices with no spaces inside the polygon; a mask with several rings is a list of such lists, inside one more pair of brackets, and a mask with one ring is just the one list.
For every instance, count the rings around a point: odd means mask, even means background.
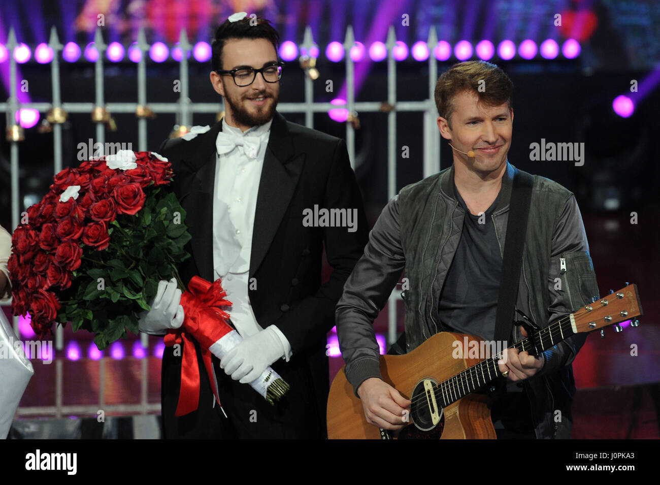
[{"label": "black tailcoat tuxedo worn by the bearded man", "polygon": [[[185,141],[167,140],[158,152],[172,162],[172,188],[187,212],[191,253],[180,268],[187,284],[194,275],[213,281],[213,189],[218,121]],[[357,230],[306,227],[303,210],[357,210]],[[261,327],[275,324],[290,342],[292,358],[273,368],[291,385],[275,406],[249,385],[232,381],[213,362],[224,418],[201,356],[199,409],[175,418],[181,357],[166,348],[162,364],[162,416],[165,437],[323,437],[329,390],[326,334],[335,324],[335,306],[345,281],[362,256],[368,228],[362,197],[344,141],[290,123],[275,113],[263,161],[255,211],[249,278],[257,289],[249,299]],[[334,271],[321,284],[323,245]]]}]

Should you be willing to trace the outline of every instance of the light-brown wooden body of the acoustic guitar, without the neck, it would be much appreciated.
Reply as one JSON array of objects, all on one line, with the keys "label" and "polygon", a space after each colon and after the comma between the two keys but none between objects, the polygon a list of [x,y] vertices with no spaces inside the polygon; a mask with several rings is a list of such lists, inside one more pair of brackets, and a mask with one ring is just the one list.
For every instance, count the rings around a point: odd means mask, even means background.
[{"label": "light-brown wooden body of the acoustic guitar, without the neck", "polygon": [[[420,381],[430,379],[437,384],[479,362],[479,359],[453,358],[453,343],[459,340],[463,344],[465,337],[468,342],[480,342],[477,337],[442,332],[408,354],[380,356],[383,381],[407,399],[413,395],[419,398],[423,389]],[[416,399],[416,402],[426,407],[426,399]],[[442,409],[440,422],[435,425],[430,421],[428,412],[420,412],[413,404],[409,422],[409,426],[399,434],[399,439],[496,439],[490,420],[490,399],[480,394],[469,394],[449,404]],[[414,422],[424,430],[420,430]],[[327,428],[329,439],[387,439],[381,436],[379,428],[366,421],[362,401],[354,395],[344,368],[337,373],[330,387]]]}]

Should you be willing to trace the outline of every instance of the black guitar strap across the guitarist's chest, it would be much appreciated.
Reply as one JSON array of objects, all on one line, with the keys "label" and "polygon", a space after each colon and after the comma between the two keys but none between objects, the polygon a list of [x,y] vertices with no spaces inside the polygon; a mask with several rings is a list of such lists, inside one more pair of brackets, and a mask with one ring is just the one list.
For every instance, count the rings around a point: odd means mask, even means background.
[{"label": "black guitar strap across the guitarist's chest", "polygon": [[533,176],[516,170],[509,203],[509,218],[506,223],[500,294],[495,317],[495,340],[497,342],[508,341],[511,336],[533,185]]}]

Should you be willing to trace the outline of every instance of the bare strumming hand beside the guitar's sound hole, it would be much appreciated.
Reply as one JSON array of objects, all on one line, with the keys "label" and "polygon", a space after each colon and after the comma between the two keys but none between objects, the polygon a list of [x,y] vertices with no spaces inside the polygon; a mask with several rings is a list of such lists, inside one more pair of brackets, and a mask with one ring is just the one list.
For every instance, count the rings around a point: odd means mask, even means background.
[{"label": "bare strumming hand beside the guitar's sound hole", "polygon": [[358,387],[358,396],[369,424],[385,430],[401,430],[406,426],[404,410],[409,410],[411,401],[385,381],[378,377],[366,379]]}]

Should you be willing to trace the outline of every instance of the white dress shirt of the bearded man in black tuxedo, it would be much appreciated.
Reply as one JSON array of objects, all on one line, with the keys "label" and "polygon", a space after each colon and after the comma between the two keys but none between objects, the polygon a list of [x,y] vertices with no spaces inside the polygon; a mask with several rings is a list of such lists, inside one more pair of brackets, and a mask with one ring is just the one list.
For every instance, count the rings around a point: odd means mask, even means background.
[{"label": "white dress shirt of the bearded man in black tuxedo", "polygon": [[[272,120],[242,132],[222,119],[222,132],[232,137],[258,137],[256,158],[246,155],[244,146],[237,145],[226,154],[216,153],[215,189],[213,193],[213,269],[214,278],[222,278],[227,300],[232,302],[230,318],[244,338],[263,328],[257,323],[249,302],[249,260],[252,251],[252,229],[257,207],[257,193]],[[220,135],[218,135],[220,137]],[[258,288],[258,286],[257,286]],[[282,342],[288,362],[291,346],[284,334],[271,325]]]}]

